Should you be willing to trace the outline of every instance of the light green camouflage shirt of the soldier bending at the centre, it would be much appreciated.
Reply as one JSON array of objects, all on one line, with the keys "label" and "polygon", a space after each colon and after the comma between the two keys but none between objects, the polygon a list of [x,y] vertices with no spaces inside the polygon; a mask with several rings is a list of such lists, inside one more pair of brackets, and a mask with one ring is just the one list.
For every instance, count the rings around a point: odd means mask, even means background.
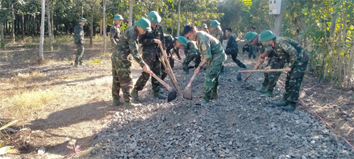
[{"label": "light green camouflage shirt of the soldier bending at the centre", "polygon": [[219,40],[212,37],[212,35],[209,35],[208,33],[198,31],[196,44],[203,59],[217,59],[219,57],[226,57],[222,44]]}]

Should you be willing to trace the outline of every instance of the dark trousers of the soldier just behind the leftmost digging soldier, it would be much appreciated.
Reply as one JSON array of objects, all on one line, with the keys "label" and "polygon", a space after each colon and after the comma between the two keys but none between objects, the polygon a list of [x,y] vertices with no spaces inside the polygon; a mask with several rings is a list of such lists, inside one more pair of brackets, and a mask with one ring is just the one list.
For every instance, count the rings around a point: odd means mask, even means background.
[{"label": "dark trousers of the soldier just behind the leftmost digging soldier", "polygon": [[[156,57],[155,61],[150,61],[144,59],[145,64],[149,66],[150,70],[156,74],[159,78],[161,78],[161,61],[159,60],[158,57]],[[150,74],[146,72],[142,72],[142,75],[137,79],[137,83],[135,83],[134,88],[136,90],[142,90],[144,86],[147,84],[147,81],[150,78]],[[161,85],[159,81],[157,81],[155,78],[152,78],[152,90],[154,92],[158,92],[161,88]]]}]

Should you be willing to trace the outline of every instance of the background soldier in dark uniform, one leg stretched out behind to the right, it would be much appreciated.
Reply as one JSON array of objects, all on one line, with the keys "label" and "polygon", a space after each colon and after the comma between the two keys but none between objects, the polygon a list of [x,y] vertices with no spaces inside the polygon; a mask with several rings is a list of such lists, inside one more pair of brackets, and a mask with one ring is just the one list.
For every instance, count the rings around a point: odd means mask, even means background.
[{"label": "background soldier in dark uniform, one leg stretched out behind to the right", "polygon": [[243,64],[239,59],[237,58],[237,54],[239,53],[239,44],[236,40],[237,35],[235,33],[232,33],[231,28],[226,28],[225,30],[225,35],[228,37],[229,40],[227,40],[227,47],[225,49],[225,54],[229,55],[231,54],[232,60],[241,68],[247,68],[245,64]]}]

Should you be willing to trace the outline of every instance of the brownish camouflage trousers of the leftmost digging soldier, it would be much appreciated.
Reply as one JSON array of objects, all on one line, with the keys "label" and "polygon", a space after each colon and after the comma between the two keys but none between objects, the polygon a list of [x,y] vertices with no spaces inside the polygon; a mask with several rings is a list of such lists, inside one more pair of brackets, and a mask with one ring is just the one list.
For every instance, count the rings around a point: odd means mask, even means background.
[{"label": "brownish camouflage trousers of the leftmost digging soldier", "polygon": [[128,59],[118,60],[118,57],[111,57],[112,60],[112,97],[115,100],[120,99],[120,89],[122,89],[123,99],[125,102],[130,102],[132,95],[130,95],[130,89],[132,89],[132,57],[128,56]]}]

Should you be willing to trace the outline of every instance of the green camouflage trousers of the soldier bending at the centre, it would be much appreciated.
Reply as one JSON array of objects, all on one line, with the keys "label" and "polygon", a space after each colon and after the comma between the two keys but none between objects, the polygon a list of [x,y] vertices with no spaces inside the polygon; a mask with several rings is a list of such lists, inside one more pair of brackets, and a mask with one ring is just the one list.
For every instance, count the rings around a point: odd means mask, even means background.
[{"label": "green camouflage trousers of the soldier bending at the centre", "polygon": [[212,92],[217,93],[217,87],[219,86],[219,73],[226,59],[226,54],[219,55],[218,57],[212,57],[212,61],[210,61],[209,66],[207,66],[203,90],[205,100],[210,100],[210,95]]}]

